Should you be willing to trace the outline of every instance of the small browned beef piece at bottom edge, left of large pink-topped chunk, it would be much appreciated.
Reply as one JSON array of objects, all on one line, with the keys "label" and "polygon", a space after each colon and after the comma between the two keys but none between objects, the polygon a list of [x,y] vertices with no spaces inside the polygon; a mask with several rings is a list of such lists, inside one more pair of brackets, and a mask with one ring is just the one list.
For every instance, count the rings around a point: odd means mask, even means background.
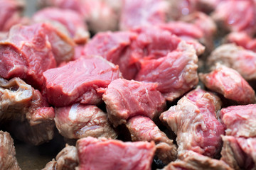
[{"label": "small browned beef piece at bottom edge, left of large pink-topped chunk", "polygon": [[78,150],[74,146],[66,145],[56,156],[56,160],[46,164],[42,170],[75,170],[78,166]]}]

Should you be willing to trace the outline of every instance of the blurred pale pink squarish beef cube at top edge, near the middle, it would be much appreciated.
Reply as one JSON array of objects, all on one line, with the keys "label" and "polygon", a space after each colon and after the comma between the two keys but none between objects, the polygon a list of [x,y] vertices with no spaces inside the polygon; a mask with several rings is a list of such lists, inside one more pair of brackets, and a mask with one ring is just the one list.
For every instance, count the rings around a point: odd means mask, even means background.
[{"label": "blurred pale pink squarish beef cube at top edge, near the middle", "polygon": [[129,30],[139,26],[154,26],[166,21],[166,1],[124,0],[119,28]]}]

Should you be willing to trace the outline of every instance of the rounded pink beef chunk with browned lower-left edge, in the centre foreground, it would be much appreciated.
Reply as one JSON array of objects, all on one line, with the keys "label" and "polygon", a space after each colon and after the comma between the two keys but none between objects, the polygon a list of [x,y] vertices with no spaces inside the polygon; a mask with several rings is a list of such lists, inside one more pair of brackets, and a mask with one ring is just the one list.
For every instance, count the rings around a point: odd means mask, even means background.
[{"label": "rounded pink beef chunk with browned lower-left edge, in the centre foreground", "polygon": [[102,99],[106,104],[107,118],[114,127],[127,123],[135,115],[158,118],[166,101],[156,87],[157,84],[127,79],[112,81]]}]

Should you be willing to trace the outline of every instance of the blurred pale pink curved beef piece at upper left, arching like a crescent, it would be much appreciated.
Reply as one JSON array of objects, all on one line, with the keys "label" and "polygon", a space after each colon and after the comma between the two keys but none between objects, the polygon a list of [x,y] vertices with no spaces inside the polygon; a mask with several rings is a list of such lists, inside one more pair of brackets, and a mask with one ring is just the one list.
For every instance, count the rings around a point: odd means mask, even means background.
[{"label": "blurred pale pink curved beef piece at upper left, arching like a crescent", "polygon": [[[69,36],[78,44],[83,44],[90,38],[82,16],[70,9],[43,8],[33,15],[33,21],[50,22],[53,26],[62,24],[68,30]],[[56,27],[58,28],[58,25]]]}]

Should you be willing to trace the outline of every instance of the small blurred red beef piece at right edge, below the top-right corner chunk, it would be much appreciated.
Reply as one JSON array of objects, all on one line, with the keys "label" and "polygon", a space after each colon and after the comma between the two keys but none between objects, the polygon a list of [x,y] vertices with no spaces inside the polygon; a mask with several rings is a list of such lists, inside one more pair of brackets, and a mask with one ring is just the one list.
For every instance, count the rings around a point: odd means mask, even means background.
[{"label": "small blurred red beef piece at right edge, below the top-right corner chunk", "polygon": [[238,46],[242,46],[247,50],[256,52],[256,39],[250,38],[247,33],[230,33],[228,34],[226,41],[233,42]]}]

